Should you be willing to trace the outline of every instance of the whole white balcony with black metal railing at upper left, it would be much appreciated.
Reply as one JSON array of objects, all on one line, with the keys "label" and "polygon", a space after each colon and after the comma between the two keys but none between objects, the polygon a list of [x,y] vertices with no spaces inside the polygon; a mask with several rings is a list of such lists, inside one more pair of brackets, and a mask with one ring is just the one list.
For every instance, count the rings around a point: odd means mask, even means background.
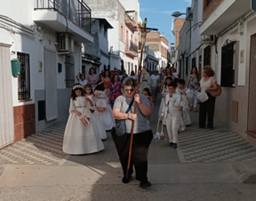
[{"label": "whole white balcony with black metal railing at upper left", "polygon": [[59,33],[69,33],[77,42],[93,42],[91,9],[84,0],[36,0],[33,20]]}]

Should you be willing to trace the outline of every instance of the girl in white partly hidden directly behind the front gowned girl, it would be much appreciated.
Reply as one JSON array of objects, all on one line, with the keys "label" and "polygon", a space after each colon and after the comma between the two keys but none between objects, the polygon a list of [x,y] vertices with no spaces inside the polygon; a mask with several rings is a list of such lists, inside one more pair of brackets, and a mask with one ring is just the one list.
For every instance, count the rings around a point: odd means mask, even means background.
[{"label": "girl in white partly hidden directly behind the front gowned girl", "polygon": [[92,126],[93,126],[95,132],[100,135],[101,140],[106,140],[107,133],[106,133],[103,125],[100,124],[99,112],[96,110],[95,97],[92,94],[92,85],[86,84],[84,86],[84,90],[85,90],[85,97],[89,98],[89,100],[87,100],[87,106],[92,115],[92,119],[91,119]]}]

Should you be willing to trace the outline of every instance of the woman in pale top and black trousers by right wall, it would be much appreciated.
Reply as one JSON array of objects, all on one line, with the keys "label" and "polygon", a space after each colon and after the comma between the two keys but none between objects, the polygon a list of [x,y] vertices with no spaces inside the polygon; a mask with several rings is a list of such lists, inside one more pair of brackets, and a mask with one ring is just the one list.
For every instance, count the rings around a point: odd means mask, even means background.
[{"label": "woman in pale top and black trousers by right wall", "polygon": [[205,122],[207,117],[207,128],[213,128],[213,116],[215,99],[211,92],[218,89],[217,81],[214,78],[214,71],[211,66],[205,66],[203,70],[203,78],[200,81],[199,90],[205,91],[208,99],[204,103],[199,105],[199,127],[205,128]]}]

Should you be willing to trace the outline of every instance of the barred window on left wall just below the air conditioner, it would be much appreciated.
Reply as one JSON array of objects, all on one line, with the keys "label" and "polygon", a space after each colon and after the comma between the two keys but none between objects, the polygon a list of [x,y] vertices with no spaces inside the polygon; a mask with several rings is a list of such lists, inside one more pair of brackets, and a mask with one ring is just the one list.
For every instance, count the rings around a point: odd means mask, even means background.
[{"label": "barred window on left wall just below the air conditioner", "polygon": [[74,57],[66,56],[66,87],[72,88],[75,84]]}]

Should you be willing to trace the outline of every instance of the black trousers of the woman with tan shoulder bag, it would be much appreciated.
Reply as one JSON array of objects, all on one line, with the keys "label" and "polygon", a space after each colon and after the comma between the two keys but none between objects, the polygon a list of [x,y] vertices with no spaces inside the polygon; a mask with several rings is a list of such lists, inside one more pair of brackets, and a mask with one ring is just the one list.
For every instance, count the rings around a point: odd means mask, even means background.
[{"label": "black trousers of the woman with tan shoulder bag", "polygon": [[204,103],[199,105],[199,127],[204,128],[206,117],[207,117],[207,127],[213,128],[213,116],[216,97],[212,97],[210,93],[207,92],[209,99]]}]

